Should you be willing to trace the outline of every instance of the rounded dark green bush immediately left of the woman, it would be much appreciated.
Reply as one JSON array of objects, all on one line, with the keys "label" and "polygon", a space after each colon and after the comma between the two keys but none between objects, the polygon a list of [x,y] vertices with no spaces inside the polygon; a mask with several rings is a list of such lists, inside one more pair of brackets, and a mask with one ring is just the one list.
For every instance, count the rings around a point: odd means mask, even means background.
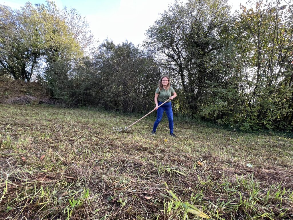
[{"label": "rounded dark green bush immediately left of the woman", "polygon": [[160,77],[153,57],[132,43],[115,45],[106,40],[100,45],[94,62],[103,82],[103,106],[124,112],[153,108]]}]

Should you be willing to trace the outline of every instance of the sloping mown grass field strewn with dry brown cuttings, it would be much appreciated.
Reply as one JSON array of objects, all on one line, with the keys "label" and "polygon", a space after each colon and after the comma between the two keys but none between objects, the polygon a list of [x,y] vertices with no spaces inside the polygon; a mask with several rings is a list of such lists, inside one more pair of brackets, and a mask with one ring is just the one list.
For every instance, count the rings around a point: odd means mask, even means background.
[{"label": "sloping mown grass field strewn with dry brown cuttings", "polygon": [[293,218],[291,138],[139,118],[0,105],[0,219]]}]

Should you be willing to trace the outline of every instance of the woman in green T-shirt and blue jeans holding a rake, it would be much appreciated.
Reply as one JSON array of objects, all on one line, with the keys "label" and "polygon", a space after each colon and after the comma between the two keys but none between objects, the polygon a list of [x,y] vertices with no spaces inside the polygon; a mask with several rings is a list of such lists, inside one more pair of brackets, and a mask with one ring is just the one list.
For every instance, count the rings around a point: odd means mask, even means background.
[{"label": "woman in green T-shirt and blue jeans holding a rake", "polygon": [[[169,121],[170,135],[172,137],[176,137],[175,134],[173,133],[173,126],[174,126],[173,125],[173,111],[171,106],[171,100],[173,100],[176,96],[177,96],[176,92],[170,86],[170,78],[168,76],[161,77],[158,88],[156,89],[156,93],[155,93],[155,104],[156,104],[155,110],[157,110],[157,120],[154,123],[153,131],[151,132],[151,134],[156,134],[156,129],[165,111]],[[169,101],[167,101],[160,108],[158,108],[159,105],[161,105],[164,101],[168,99]]]}]

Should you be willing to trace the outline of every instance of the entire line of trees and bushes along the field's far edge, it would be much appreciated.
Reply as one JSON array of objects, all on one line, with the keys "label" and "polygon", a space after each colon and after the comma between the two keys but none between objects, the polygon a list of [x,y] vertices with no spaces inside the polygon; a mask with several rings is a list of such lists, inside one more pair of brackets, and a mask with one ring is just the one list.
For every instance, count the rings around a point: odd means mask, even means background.
[{"label": "entire line of trees and bushes along the field's far edge", "polygon": [[177,114],[243,131],[293,128],[293,4],[176,1],[131,42],[98,44],[75,9],[0,5],[0,76],[48,86],[69,106],[145,112],[169,75]]}]

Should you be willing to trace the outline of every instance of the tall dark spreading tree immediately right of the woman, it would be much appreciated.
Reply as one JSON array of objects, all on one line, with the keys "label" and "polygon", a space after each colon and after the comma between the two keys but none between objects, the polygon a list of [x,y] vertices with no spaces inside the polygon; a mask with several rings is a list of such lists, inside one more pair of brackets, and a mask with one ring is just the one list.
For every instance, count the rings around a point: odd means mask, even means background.
[{"label": "tall dark spreading tree immediately right of the woman", "polygon": [[145,44],[161,65],[172,70],[173,78],[179,79],[184,91],[179,98],[186,100],[187,111],[193,114],[209,93],[207,79],[219,82],[222,72],[227,74],[233,68],[229,67],[233,53],[228,36],[232,21],[225,0],[176,1],[147,31]]}]

